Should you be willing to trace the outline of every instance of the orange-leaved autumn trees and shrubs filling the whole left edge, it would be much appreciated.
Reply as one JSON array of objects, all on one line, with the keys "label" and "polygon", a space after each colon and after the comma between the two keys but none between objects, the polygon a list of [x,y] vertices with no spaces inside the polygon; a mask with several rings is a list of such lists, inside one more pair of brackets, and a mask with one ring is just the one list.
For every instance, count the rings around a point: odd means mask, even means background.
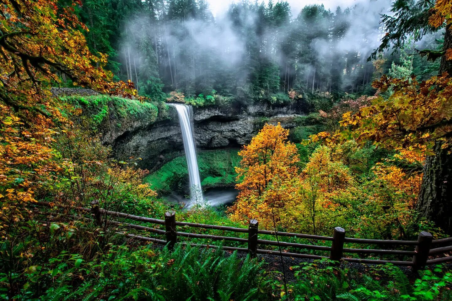
[{"label": "orange-leaved autumn trees and shrubs filling the whole left edge", "polygon": [[[25,283],[30,258],[47,260],[60,251],[29,204],[43,200],[67,208],[96,199],[107,207],[112,199],[154,195],[141,184],[143,171],[108,163],[108,148],[71,121],[80,110],[51,95],[51,85],[66,76],[78,87],[138,97],[133,83],[113,82],[103,69],[105,55],[89,51],[80,31],[86,27],[74,13],[78,5],[0,0],[0,256],[11,298]],[[61,227],[74,233],[74,222]],[[91,252],[92,243],[79,251]]]}]

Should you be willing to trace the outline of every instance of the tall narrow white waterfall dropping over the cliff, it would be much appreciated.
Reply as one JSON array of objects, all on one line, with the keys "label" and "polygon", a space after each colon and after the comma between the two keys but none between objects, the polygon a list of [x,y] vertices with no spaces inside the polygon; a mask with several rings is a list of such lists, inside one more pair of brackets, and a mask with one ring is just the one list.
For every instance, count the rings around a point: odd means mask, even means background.
[{"label": "tall narrow white waterfall dropping over the cliff", "polygon": [[185,157],[188,165],[188,178],[190,183],[190,198],[192,201],[202,201],[201,178],[198,170],[198,159],[196,158],[195,140],[193,138],[193,113],[192,107],[169,103],[177,110],[179,116],[180,130],[182,131],[182,140],[184,142]]}]

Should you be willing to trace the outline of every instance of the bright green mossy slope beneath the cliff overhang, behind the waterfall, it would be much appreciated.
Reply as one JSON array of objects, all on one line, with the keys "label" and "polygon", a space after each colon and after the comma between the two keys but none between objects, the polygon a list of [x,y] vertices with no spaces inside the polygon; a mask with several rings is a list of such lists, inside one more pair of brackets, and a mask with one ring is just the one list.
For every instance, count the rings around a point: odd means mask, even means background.
[{"label": "bright green mossy slope beneath the cliff overhang, behind the waterfall", "polygon": [[[203,188],[235,185],[235,169],[240,163],[236,149],[198,152],[198,167]],[[158,171],[146,176],[145,183],[160,194],[182,192],[188,186],[187,160],[176,157]]]}]

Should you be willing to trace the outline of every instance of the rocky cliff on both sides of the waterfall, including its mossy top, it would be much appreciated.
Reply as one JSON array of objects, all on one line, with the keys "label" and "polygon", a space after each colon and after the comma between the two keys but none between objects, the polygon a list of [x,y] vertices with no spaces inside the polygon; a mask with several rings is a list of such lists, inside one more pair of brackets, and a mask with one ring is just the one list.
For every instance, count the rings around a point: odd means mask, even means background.
[{"label": "rocky cliff on both sides of the waterfall, including its mossy top", "polygon": [[[112,146],[119,160],[140,157],[140,167],[155,171],[165,162],[184,154],[179,118],[174,107],[167,110],[119,97],[102,96],[89,89],[52,88],[55,97],[85,98],[84,113],[93,117],[102,112],[97,125],[101,141]],[[89,97],[99,96],[92,106]],[[294,118],[306,114],[306,104],[294,103],[286,107],[252,105],[248,107],[194,107],[194,136],[198,149],[240,148],[250,143],[262,126],[268,122],[285,128],[296,126]],[[158,111],[158,115],[157,115]]]}]

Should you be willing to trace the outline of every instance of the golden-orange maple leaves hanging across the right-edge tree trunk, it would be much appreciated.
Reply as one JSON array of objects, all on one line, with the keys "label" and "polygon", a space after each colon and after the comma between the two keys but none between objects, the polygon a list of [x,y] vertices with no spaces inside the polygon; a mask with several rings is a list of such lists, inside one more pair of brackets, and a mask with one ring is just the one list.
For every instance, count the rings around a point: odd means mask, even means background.
[{"label": "golden-orange maple leaves hanging across the right-edge tree trunk", "polygon": [[[452,81],[445,74],[418,83],[386,76],[374,83],[385,91],[394,87],[388,100],[377,97],[356,114],[346,112],[340,134],[343,139],[374,141],[385,148],[431,153],[434,141],[449,142],[452,132]],[[420,89],[418,88],[420,87]],[[337,134],[337,133],[336,133]],[[444,144],[447,146],[447,144]]]}]

